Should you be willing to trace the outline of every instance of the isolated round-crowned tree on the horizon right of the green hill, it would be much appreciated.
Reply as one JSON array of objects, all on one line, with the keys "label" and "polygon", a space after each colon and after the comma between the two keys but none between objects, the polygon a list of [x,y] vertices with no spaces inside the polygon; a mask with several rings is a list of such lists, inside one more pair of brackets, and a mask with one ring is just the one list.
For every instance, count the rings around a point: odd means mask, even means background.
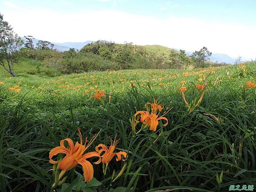
[{"label": "isolated round-crowned tree on the horizon right of the green hill", "polygon": [[196,68],[198,68],[198,67],[203,67],[204,68],[205,61],[211,55],[212,55],[212,52],[209,52],[206,47],[203,47],[202,49],[200,49],[200,51],[193,52],[191,57],[195,61],[195,67]]}]

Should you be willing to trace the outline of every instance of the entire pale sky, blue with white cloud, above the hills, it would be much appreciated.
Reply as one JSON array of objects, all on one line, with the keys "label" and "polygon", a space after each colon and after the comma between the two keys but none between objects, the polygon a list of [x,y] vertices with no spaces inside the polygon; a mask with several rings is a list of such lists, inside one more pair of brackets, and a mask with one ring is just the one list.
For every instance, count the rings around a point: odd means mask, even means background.
[{"label": "entire pale sky, blue with white cloud, above the hills", "polygon": [[15,32],[52,42],[107,40],[256,58],[256,0],[0,0]]}]

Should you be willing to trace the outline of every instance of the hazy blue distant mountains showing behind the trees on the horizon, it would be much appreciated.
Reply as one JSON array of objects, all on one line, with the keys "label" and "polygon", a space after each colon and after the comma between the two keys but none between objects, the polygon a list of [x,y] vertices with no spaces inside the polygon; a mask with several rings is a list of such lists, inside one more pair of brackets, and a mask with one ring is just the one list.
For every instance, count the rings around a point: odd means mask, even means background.
[{"label": "hazy blue distant mountains showing behind the trees on the horizon", "polygon": [[[23,41],[26,41],[25,38],[22,38]],[[38,39],[34,39],[34,45],[38,43]],[[54,43],[52,42],[52,44],[54,44],[54,49],[57,49],[58,51],[68,51],[70,48],[75,48],[77,50],[80,50],[81,48],[83,48],[85,45],[93,43],[95,41],[84,41],[84,42],[66,42],[66,43]],[[177,49],[176,49],[177,50]],[[186,51],[187,55],[191,55],[192,52]],[[223,53],[212,53],[212,56],[210,57],[210,60],[212,62],[216,62],[218,61],[218,63],[221,62],[225,62],[228,64],[234,64],[236,59],[231,58],[229,55],[227,54],[223,54]]]}]

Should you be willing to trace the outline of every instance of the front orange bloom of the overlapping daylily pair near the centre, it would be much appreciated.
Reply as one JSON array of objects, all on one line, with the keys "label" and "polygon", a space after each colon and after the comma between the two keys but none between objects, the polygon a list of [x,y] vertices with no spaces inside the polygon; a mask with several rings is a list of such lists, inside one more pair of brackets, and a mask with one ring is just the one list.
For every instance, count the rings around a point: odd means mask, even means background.
[{"label": "front orange bloom of the overlapping daylily pair near the centre", "polygon": [[142,122],[144,125],[146,125],[145,128],[149,126],[149,129],[151,131],[157,130],[157,125],[159,123],[158,121],[161,119],[166,120],[166,124],[163,125],[164,127],[166,125],[168,125],[168,119],[166,117],[163,117],[163,116],[158,117],[158,115],[156,115],[154,113],[149,114],[148,111],[137,111],[137,113],[135,113],[135,115],[134,115],[135,119],[138,114],[140,114],[140,122]]}]

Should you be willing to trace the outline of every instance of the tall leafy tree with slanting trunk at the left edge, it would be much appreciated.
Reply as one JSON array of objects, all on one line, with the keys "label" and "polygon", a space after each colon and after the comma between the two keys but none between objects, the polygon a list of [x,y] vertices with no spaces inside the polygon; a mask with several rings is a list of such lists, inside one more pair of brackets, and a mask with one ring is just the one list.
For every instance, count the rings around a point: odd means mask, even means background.
[{"label": "tall leafy tree with slanting trunk at the left edge", "polygon": [[0,65],[14,77],[17,75],[14,73],[13,65],[17,63],[18,51],[22,45],[21,38],[13,32],[12,27],[0,14]]}]

